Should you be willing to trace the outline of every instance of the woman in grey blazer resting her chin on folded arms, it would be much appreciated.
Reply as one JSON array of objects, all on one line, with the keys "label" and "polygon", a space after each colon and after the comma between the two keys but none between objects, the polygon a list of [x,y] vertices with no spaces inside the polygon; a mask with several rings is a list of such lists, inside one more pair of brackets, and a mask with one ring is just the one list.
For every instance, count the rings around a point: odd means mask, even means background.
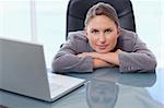
[{"label": "woman in grey blazer resting her chin on folded arms", "polygon": [[69,34],[52,69],[60,73],[93,72],[115,65],[120,72],[148,72],[155,70],[156,60],[136,33],[119,26],[115,9],[99,2],[89,10],[84,31]]}]

